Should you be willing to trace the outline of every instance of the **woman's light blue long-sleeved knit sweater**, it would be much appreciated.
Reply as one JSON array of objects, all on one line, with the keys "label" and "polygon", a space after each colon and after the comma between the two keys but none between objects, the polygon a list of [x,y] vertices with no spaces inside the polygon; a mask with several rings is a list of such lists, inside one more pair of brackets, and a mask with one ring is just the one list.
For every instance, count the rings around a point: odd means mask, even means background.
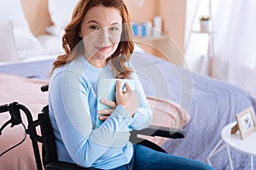
[{"label": "woman's light blue long-sleeved knit sweater", "polygon": [[140,107],[133,117],[122,105],[96,128],[96,81],[113,78],[110,65],[96,68],[79,57],[56,68],[49,82],[49,118],[58,160],[82,167],[110,169],[131,161],[130,129],[148,127],[152,111],[135,72]]}]

